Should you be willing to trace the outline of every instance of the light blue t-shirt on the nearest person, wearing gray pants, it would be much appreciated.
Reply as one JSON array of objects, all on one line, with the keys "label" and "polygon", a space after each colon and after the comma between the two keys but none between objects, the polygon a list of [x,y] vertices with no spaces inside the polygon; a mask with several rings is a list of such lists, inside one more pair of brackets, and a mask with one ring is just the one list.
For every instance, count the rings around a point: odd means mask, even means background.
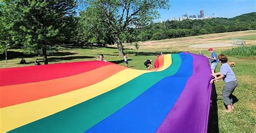
[{"label": "light blue t-shirt on the nearest person, wearing gray pants", "polygon": [[237,78],[235,78],[233,70],[227,63],[221,65],[220,73],[224,75],[223,80],[225,83],[237,80]]}]

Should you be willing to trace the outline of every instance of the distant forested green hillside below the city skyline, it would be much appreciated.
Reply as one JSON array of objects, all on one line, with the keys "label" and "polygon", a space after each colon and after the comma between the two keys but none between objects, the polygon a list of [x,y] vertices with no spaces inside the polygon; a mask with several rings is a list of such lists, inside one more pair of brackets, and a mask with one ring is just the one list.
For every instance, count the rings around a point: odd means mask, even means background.
[{"label": "distant forested green hillside below the city skyline", "polygon": [[256,29],[256,12],[242,14],[234,18],[167,20],[163,23],[152,23],[143,28],[132,29],[132,32],[123,34],[122,39],[125,42],[161,40],[250,29]]}]

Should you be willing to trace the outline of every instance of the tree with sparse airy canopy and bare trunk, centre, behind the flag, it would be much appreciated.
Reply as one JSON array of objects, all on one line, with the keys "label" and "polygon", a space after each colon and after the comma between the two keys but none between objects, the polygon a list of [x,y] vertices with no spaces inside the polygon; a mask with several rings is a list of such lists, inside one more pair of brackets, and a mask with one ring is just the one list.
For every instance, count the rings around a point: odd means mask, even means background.
[{"label": "tree with sparse airy canopy and bare trunk, centre, behind the flag", "polygon": [[[156,9],[169,7],[168,1],[86,1],[87,19],[95,25],[107,25],[105,30],[117,42],[119,56],[124,56],[121,34],[129,28],[149,25],[159,16]],[[90,9],[90,10],[87,10]],[[103,29],[103,31],[105,31]]]}]

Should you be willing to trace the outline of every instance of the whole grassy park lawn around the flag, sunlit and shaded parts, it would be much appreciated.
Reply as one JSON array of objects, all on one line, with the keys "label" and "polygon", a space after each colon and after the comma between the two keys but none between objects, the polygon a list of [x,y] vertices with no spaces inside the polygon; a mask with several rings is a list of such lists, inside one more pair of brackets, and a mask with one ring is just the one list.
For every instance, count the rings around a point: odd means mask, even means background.
[{"label": "whole grassy park lawn around the flag, sunlit and shaded parts", "polygon": [[[248,33],[255,33],[255,31],[248,31]],[[240,33],[242,34],[242,33]],[[246,32],[247,34],[247,32]],[[207,35],[211,36],[211,35]],[[216,36],[214,34],[214,36]],[[243,38],[251,38],[251,34],[240,35]],[[192,38],[192,37],[190,37]],[[206,36],[193,36],[197,38],[197,43],[200,43],[200,39],[207,39]],[[214,37],[215,38],[215,37]],[[232,38],[227,35],[226,38]],[[184,38],[181,38],[184,40]],[[225,39],[225,38],[224,38]],[[179,40],[179,39],[176,39]],[[247,42],[247,40],[246,40]],[[252,43],[256,44],[256,43]],[[129,48],[129,47],[128,47]],[[216,49],[217,54],[220,54],[227,48]],[[125,53],[129,54],[129,67],[132,69],[145,70],[143,62],[146,59],[156,60],[156,55],[163,52],[164,54],[178,53],[179,51],[190,51],[191,53],[198,54],[198,50],[203,50],[205,56],[210,56],[206,49],[192,49],[188,46],[177,45],[176,48],[160,48],[151,49],[142,47],[142,49],[134,50],[125,49]],[[77,61],[91,61],[96,60],[99,54],[104,54],[105,60],[124,65],[122,57],[118,57],[117,48],[97,48],[97,47],[71,47],[64,46],[58,53],[49,56],[49,63],[63,63],[63,62],[77,62]],[[26,62],[30,64],[18,64],[24,57]],[[0,57],[0,68],[11,68],[11,67],[24,67],[34,65],[36,58],[39,58],[43,64],[43,58],[35,55],[24,55],[21,49],[10,49],[8,51],[8,64],[5,64],[4,55]],[[238,101],[234,104],[234,111],[232,113],[225,113],[223,109],[223,98],[221,96],[221,90],[224,85],[223,81],[215,84],[216,94],[213,98],[212,110],[210,113],[210,126],[209,132],[256,132],[255,118],[256,118],[256,57],[242,57],[232,56],[228,57],[229,61],[234,61],[237,67],[232,67],[235,75],[238,79],[238,87],[234,91],[235,97]],[[219,71],[220,65],[217,67]],[[213,95],[214,97],[214,95]],[[215,105],[214,105],[215,103]],[[216,108],[213,108],[215,106]]]}]

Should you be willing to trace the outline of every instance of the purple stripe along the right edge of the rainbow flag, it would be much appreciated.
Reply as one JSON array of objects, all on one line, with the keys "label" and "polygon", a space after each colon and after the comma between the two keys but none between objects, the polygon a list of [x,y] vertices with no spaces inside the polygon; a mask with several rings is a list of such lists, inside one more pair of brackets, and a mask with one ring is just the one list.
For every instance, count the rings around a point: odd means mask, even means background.
[{"label": "purple stripe along the right edge of the rainbow flag", "polygon": [[157,132],[207,132],[211,99],[208,58],[191,54],[193,74]]}]

